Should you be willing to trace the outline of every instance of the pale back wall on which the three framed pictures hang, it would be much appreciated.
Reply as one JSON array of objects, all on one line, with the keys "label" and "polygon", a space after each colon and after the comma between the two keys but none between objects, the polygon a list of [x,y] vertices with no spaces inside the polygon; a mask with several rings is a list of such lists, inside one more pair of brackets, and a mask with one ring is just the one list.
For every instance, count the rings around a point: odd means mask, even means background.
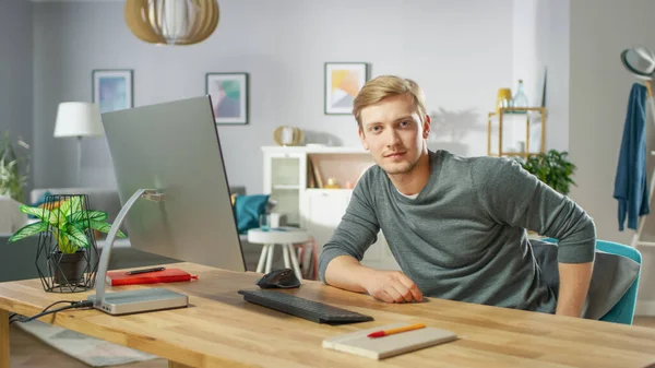
[{"label": "pale back wall on which the three framed pictures hang", "polygon": [[[155,47],[134,37],[120,2],[34,3],[36,185],[71,186],[72,140],[52,135],[57,104],[91,100],[93,69],[134,69],[136,106],[204,94],[206,72],[250,73],[250,123],[219,127],[230,185],[262,190],[260,146],[282,124],[358,145],[352,117],[323,115],[323,63],[367,61],[372,75],[416,79],[434,127],[431,147],[486,154],[486,117],[512,83],[512,0],[221,1],[206,41]],[[312,134],[313,132],[313,134]],[[454,138],[453,138],[454,136]],[[452,142],[452,141],[455,142]],[[83,181],[114,187],[104,139],[84,141]],[[246,168],[247,167],[247,168]]]}]

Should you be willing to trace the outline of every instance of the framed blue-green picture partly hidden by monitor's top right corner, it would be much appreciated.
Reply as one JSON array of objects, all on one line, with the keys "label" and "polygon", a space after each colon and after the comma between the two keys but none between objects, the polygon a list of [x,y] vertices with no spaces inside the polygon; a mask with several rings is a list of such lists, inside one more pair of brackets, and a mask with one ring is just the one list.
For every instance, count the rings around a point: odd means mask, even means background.
[{"label": "framed blue-green picture partly hidden by monitor's top right corner", "polygon": [[205,90],[217,124],[248,123],[248,73],[207,73]]}]

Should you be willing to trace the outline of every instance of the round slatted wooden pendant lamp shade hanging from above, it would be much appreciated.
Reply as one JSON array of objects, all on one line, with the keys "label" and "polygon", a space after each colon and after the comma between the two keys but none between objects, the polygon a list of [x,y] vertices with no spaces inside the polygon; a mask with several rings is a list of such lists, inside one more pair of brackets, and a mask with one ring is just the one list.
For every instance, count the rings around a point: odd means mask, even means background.
[{"label": "round slatted wooden pendant lamp shade hanging from above", "polygon": [[218,25],[217,0],[127,0],[126,23],[151,44],[192,45]]}]

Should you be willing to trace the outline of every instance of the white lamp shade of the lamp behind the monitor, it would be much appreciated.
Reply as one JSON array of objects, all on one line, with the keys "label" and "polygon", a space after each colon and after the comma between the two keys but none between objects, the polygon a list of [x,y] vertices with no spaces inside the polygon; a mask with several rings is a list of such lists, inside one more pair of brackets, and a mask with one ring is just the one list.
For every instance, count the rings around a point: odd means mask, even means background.
[{"label": "white lamp shade of the lamp behind the monitor", "polygon": [[61,103],[57,110],[55,136],[104,135],[105,129],[97,104]]}]

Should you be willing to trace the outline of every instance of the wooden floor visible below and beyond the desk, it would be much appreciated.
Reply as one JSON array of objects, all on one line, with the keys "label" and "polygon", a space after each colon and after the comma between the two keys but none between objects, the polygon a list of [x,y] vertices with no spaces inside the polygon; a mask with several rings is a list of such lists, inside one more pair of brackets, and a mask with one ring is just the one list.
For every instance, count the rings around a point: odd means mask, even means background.
[{"label": "wooden floor visible below and beyond the desk", "polygon": [[[634,324],[655,329],[655,317],[636,317]],[[87,365],[60,353],[59,351],[41,343],[20,329],[10,329],[11,367],[38,368],[38,367],[67,367],[85,368]],[[168,363],[164,359],[134,363],[115,366],[116,368],[166,368]]]}]

